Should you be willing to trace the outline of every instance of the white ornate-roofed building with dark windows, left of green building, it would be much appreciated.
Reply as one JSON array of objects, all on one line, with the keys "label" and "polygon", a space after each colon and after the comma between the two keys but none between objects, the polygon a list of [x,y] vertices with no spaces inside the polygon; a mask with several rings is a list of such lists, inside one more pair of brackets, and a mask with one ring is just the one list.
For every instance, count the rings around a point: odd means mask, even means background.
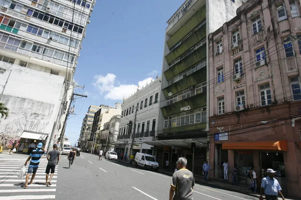
[{"label": "white ornate-roofed building with dark windows, left of green building", "polygon": [[[158,130],[159,99],[161,93],[161,77],[137,90],[132,96],[124,100],[121,111],[121,121],[115,143],[116,152],[127,152],[129,156],[132,134],[135,129],[133,151],[153,154],[151,145],[144,141],[154,140]],[[135,109],[137,109],[134,127]],[[132,121],[132,128],[128,126]]]}]

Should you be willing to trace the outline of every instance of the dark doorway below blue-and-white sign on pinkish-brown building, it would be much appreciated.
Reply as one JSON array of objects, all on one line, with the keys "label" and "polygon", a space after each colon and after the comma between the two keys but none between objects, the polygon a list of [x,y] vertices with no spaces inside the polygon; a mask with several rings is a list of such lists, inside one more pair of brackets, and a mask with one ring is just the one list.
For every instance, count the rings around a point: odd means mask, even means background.
[{"label": "dark doorway below blue-and-white sign on pinkish-brown building", "polygon": [[215,144],[215,178],[224,178],[222,170],[224,160],[228,161],[228,150],[222,149],[222,144]]}]

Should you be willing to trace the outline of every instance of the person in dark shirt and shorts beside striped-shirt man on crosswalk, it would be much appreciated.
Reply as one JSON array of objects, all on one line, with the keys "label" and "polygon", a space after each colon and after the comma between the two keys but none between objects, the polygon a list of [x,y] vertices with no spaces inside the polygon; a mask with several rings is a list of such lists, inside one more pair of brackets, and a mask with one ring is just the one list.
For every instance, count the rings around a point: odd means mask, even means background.
[{"label": "person in dark shirt and shorts beside striped-shirt man on crosswalk", "polygon": [[[45,185],[51,185],[51,179],[54,175],[54,171],[55,171],[55,166],[58,165],[59,160],[60,160],[60,151],[57,150],[58,146],[57,144],[53,144],[53,150],[48,152],[48,156],[47,156],[47,160],[48,160],[48,164],[46,166],[46,183]],[[51,175],[49,178],[49,172],[51,169]],[[49,178],[49,180],[48,180]]]}]

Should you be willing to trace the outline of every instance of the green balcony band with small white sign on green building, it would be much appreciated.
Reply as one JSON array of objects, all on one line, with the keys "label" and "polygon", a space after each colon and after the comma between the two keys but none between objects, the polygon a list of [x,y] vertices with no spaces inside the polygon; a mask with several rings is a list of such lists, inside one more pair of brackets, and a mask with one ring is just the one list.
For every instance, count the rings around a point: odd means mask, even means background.
[{"label": "green balcony band with small white sign on green building", "polygon": [[180,100],[173,104],[161,107],[161,111],[163,116],[171,116],[180,112],[182,107],[190,106],[190,109],[196,109],[198,107],[206,106],[207,104],[207,92],[202,92],[186,98],[184,100]]}]

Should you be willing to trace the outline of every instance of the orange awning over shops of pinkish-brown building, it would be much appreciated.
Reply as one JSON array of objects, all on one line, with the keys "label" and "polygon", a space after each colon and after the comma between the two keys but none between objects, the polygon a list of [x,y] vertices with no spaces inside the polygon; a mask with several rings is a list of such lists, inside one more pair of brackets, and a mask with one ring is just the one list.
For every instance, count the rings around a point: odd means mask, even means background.
[{"label": "orange awning over shops of pinkish-brown building", "polygon": [[258,149],[287,151],[287,141],[236,141],[224,142],[222,149]]}]

